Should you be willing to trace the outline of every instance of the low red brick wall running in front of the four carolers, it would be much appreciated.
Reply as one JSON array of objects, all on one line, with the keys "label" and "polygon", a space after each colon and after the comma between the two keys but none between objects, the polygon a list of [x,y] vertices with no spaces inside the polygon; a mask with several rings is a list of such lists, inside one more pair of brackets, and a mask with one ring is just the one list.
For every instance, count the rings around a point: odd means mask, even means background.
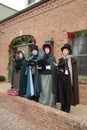
[{"label": "low red brick wall running in front of the four carolers", "polygon": [[[28,99],[10,97],[0,93],[0,103],[13,113],[23,116],[27,121],[35,124],[37,130],[87,129],[87,120]],[[9,118],[12,117],[9,116]]]}]

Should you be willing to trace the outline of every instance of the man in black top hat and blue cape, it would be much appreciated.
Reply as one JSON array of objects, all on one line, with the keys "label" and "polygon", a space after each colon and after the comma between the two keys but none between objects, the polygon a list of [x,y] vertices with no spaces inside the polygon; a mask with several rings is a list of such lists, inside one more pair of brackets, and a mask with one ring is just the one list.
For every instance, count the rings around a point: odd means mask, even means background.
[{"label": "man in black top hat and blue cape", "polygon": [[38,101],[39,92],[38,88],[38,69],[37,69],[37,61],[41,59],[39,55],[38,46],[33,45],[31,47],[31,56],[27,61],[27,67],[25,74],[27,75],[27,90],[26,96],[31,100]]}]

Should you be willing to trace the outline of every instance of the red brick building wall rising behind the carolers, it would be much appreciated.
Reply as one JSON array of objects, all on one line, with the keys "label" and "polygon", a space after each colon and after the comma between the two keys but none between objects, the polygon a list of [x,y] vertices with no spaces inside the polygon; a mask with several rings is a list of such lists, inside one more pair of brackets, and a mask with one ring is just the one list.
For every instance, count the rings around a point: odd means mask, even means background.
[{"label": "red brick building wall rising behind the carolers", "polygon": [[[86,0],[42,0],[2,20],[0,22],[0,75],[4,75],[7,81],[7,67],[9,62],[8,45],[14,39],[30,35],[36,39],[36,44],[41,48],[44,41],[53,38],[54,55],[58,61],[58,58],[61,57],[61,47],[68,41],[68,38],[71,41],[75,40],[75,43],[78,38],[75,39],[71,35],[67,35],[67,32],[73,32],[75,35],[79,34],[80,39],[83,36],[81,32],[85,31],[86,34],[86,30]],[[85,44],[85,47],[87,47],[87,44]],[[74,51],[77,52],[78,49],[74,49]],[[82,54],[84,60],[81,62],[81,64],[85,64],[82,68],[83,71],[85,68],[84,74],[83,72],[80,73],[81,66],[79,65],[79,74],[82,77],[86,77],[87,74],[87,48],[85,51],[86,53]],[[76,56],[79,57],[79,53]],[[79,81],[80,102],[87,105],[87,80],[86,78],[85,80],[82,79]]]}]

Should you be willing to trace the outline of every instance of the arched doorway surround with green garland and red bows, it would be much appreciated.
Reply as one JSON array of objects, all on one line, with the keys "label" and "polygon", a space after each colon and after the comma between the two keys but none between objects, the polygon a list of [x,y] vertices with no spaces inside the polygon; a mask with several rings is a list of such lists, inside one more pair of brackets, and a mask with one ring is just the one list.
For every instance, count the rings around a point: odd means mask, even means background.
[{"label": "arched doorway surround with green garland and red bows", "polygon": [[[11,74],[12,74],[12,58],[15,57],[15,54],[17,53],[17,51],[20,50],[24,50],[24,48],[29,47],[30,45],[36,44],[36,40],[34,38],[34,36],[32,35],[22,35],[22,36],[18,36],[16,38],[14,38],[11,43],[8,46],[8,51],[9,51],[9,62],[8,62],[8,80],[11,81]],[[28,51],[28,48],[27,48]],[[28,52],[27,52],[27,55]],[[28,57],[28,56],[27,56]]]}]

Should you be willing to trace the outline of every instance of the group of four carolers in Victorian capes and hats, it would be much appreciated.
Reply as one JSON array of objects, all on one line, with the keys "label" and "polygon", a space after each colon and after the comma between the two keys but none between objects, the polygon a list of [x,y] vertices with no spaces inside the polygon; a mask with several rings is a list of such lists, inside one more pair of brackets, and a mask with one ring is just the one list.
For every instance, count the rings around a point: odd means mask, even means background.
[{"label": "group of four carolers in Victorian capes and hats", "polygon": [[78,72],[76,59],[71,55],[69,44],[62,48],[63,57],[56,64],[50,44],[43,45],[44,55],[33,45],[31,56],[26,61],[23,51],[18,51],[14,60],[12,89],[18,89],[19,96],[55,107],[61,103],[61,110],[70,112],[71,105],[79,104]]}]

